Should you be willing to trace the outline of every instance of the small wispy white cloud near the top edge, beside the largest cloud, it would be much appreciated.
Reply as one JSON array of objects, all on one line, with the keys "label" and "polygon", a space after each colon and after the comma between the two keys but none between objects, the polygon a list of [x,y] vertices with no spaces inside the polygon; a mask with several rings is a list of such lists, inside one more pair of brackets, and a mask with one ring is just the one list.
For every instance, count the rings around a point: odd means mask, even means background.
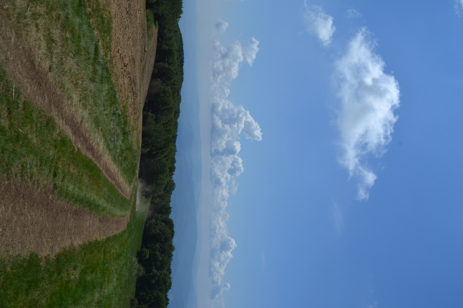
[{"label": "small wispy white cloud near the top edge, beside the largest cloud", "polygon": [[307,25],[307,32],[318,36],[323,46],[331,45],[331,39],[336,27],[333,25],[333,17],[326,14],[320,6],[309,6],[304,1],[304,20]]}]

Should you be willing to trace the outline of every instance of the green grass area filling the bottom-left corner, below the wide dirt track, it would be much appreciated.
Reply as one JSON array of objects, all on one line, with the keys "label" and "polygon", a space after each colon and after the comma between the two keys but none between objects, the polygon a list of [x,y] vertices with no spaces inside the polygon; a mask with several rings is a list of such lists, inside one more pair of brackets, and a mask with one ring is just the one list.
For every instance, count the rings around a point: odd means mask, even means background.
[{"label": "green grass area filling the bottom-left corner, below the wide dirt track", "polygon": [[68,247],[54,259],[1,258],[0,307],[129,307],[145,219],[146,211],[132,211],[121,233]]}]

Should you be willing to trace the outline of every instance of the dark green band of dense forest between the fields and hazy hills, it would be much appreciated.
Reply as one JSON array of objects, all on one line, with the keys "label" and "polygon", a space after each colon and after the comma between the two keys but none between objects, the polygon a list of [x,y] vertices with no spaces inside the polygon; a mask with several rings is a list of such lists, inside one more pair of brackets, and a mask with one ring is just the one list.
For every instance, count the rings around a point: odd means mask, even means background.
[{"label": "dark green band of dense forest between the fields and hazy hills", "polygon": [[144,271],[137,280],[132,307],[166,308],[171,288],[174,222],[170,197],[175,188],[175,142],[183,82],[183,42],[178,21],[182,0],[148,0],[158,26],[156,62],[143,109],[139,179],[150,200],[138,262]]}]

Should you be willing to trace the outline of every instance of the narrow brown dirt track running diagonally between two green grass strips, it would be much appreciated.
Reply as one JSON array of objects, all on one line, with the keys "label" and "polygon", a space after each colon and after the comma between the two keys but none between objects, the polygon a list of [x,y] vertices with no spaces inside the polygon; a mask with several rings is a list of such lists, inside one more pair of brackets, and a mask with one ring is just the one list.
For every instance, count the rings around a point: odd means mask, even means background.
[{"label": "narrow brown dirt track running diagonally between two green grass strips", "polygon": [[124,181],[117,166],[109,154],[104,155],[88,131],[82,126],[82,121],[75,115],[66,102],[63,93],[58,90],[51,79],[51,73],[46,68],[36,51],[24,40],[19,40],[7,24],[5,18],[0,18],[0,61],[8,73],[8,77],[21,87],[23,95],[29,98],[36,107],[42,108],[53,116],[74,143],[74,146],[90,157],[113,182],[125,198],[129,198],[130,187]]}]

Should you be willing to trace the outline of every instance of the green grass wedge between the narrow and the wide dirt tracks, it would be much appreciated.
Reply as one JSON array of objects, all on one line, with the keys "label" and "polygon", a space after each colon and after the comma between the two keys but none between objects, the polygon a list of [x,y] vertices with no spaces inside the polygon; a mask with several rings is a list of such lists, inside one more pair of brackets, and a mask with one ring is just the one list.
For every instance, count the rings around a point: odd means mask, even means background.
[{"label": "green grass wedge between the narrow and the wide dirt tracks", "polygon": [[0,173],[31,182],[36,188],[53,185],[59,199],[97,214],[125,217],[130,209],[130,201],[101,169],[75,150],[52,117],[23,99],[1,67]]}]

